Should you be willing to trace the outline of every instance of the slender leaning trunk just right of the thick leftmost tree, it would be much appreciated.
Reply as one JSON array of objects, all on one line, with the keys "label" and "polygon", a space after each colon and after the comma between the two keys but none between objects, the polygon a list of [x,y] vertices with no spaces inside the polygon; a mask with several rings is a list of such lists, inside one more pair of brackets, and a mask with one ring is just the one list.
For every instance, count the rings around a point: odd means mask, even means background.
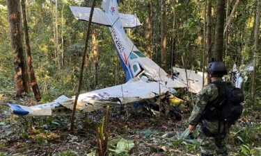
[{"label": "slender leaning trunk just right of the thick leftmost tree", "polygon": [[31,47],[30,47],[30,40],[29,40],[29,33],[28,33],[28,26],[27,26],[27,15],[26,15],[26,0],[22,0],[22,17],[24,23],[24,35],[25,35],[25,43],[26,43],[26,52],[27,52],[27,63],[29,66],[29,74],[31,78],[31,87],[33,89],[33,94],[36,101],[40,101],[40,90],[35,78],[35,74],[33,71],[33,61],[31,59]]}]

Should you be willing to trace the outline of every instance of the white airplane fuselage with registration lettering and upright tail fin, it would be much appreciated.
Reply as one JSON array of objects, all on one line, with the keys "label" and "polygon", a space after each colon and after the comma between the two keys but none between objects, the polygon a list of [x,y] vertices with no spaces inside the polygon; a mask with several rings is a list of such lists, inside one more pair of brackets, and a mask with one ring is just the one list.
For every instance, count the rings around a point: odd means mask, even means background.
[{"label": "white airplane fuselage with registration lettering and upright tail fin", "polygon": [[150,80],[166,80],[167,73],[159,65],[150,60],[150,58],[141,53],[129,37],[127,37],[122,26],[122,21],[120,21],[117,1],[110,0],[107,2],[107,5],[109,7],[104,9],[104,13],[111,22],[111,27],[109,27],[111,39],[125,71],[126,80],[128,81],[141,75],[147,76]]}]

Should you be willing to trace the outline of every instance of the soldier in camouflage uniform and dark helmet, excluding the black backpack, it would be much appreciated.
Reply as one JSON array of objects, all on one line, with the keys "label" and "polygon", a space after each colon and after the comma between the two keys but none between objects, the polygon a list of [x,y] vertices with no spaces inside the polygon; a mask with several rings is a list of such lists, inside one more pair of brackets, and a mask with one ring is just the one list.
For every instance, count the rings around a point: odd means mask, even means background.
[{"label": "soldier in camouflage uniform and dark helmet, excluding the black backpack", "polygon": [[[223,75],[227,74],[225,65],[222,62],[211,62],[207,69],[208,76],[212,82],[221,81]],[[228,155],[226,148],[226,135],[228,134],[228,125],[219,120],[203,119],[203,114],[207,105],[219,97],[219,89],[213,83],[205,85],[198,93],[196,105],[193,107],[189,117],[189,130],[193,132],[196,125],[200,124],[198,142],[202,156]],[[207,130],[207,132],[206,132]],[[223,130],[221,133],[220,131]]]}]

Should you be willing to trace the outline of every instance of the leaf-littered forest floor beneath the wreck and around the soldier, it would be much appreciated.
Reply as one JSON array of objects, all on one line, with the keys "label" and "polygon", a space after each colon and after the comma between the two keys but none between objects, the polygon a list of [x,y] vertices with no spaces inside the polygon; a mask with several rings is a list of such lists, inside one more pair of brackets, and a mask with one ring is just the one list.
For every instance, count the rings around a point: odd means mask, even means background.
[{"label": "leaf-littered forest floor beneath the wreck and around the soldier", "polygon": [[[8,99],[10,100],[10,99]],[[31,103],[32,99],[17,103]],[[14,103],[15,101],[12,100]],[[0,156],[2,155],[91,155],[97,147],[97,126],[105,111],[76,114],[74,132],[70,115],[49,117],[10,116],[0,105]],[[200,155],[196,139],[179,139],[188,127],[189,111],[181,121],[152,116],[146,109],[113,107],[109,110],[110,155]],[[119,142],[133,148],[120,150]],[[126,145],[126,144],[125,144]],[[230,155],[261,155],[261,115],[251,112],[232,125],[228,137]],[[89,154],[88,154],[89,153]]]}]

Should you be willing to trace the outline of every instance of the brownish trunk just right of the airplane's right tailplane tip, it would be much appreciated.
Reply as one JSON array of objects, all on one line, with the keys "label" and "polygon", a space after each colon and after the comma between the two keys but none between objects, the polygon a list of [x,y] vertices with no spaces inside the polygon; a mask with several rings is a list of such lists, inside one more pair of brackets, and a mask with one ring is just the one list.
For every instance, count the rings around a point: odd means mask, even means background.
[{"label": "brownish trunk just right of the airplane's right tailplane tip", "polygon": [[148,0],[148,17],[146,19],[146,23],[147,25],[147,30],[145,33],[145,42],[147,42],[147,47],[148,47],[148,54],[149,54],[149,58],[152,58],[152,3],[151,0]]}]

